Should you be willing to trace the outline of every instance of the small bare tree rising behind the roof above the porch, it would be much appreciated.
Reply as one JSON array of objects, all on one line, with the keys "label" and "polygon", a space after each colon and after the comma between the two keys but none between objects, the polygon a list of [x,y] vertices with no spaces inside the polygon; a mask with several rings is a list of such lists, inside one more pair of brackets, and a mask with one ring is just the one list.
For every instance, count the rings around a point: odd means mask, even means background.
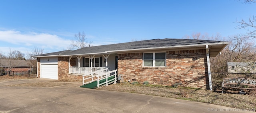
[{"label": "small bare tree rising behind the roof above the porch", "polygon": [[84,31],[80,33],[80,31],[74,35],[74,40],[71,41],[71,47],[76,49],[81,49],[84,47],[92,46],[92,41],[88,42]]}]

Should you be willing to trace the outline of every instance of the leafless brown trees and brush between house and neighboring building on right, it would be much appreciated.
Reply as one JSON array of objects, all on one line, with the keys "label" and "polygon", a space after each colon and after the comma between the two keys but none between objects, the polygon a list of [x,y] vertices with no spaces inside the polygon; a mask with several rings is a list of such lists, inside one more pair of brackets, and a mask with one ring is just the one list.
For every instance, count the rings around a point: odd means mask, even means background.
[{"label": "leafless brown trees and brush between house and neighboring building on right", "polygon": [[222,51],[221,55],[210,58],[213,72],[225,73],[227,62],[254,62],[256,51],[255,43],[248,40],[248,37],[236,35],[229,39],[230,44]]}]

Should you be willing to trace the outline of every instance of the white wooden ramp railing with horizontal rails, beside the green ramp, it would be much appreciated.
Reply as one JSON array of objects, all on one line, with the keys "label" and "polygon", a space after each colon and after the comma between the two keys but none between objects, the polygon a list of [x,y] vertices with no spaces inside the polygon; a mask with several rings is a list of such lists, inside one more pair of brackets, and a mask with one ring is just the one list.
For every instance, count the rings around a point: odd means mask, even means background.
[{"label": "white wooden ramp railing with horizontal rails, beside the green ramp", "polygon": [[[97,74],[97,73],[101,73],[101,74]],[[98,88],[99,88],[99,86],[108,86],[108,84],[111,84],[111,83],[116,84],[116,80],[117,80],[116,75],[117,75],[117,70],[108,71],[108,68],[103,69],[103,70],[98,70],[96,72],[84,74],[83,75],[83,85],[89,84],[94,81],[97,81]],[[96,78],[96,79],[94,79],[94,78]],[[112,78],[112,79],[108,80],[108,78]],[[106,79],[106,81],[99,83],[99,81],[103,80],[103,79]],[[88,81],[88,82],[84,82],[84,81]]]}]

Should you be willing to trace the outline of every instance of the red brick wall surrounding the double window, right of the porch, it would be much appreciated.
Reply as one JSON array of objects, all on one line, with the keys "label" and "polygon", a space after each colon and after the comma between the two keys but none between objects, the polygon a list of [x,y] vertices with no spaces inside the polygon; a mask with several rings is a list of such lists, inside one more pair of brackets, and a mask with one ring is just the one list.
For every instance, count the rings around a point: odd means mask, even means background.
[{"label": "red brick wall surrounding the double window, right of the porch", "polygon": [[[142,67],[143,53],[126,53],[118,55],[118,74],[124,80],[135,79],[143,83],[171,86],[176,82],[193,88],[206,88],[206,51],[167,51],[166,67]],[[194,58],[194,59],[193,59]]]}]

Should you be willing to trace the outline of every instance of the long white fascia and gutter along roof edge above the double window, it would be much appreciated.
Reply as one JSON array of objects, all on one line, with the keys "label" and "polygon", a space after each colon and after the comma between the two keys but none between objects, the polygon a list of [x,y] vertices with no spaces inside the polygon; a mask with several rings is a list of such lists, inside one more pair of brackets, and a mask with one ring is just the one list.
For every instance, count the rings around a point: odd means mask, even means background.
[{"label": "long white fascia and gutter along roof edge above the double window", "polygon": [[150,49],[176,49],[176,48],[188,48],[188,47],[205,47],[206,45],[214,46],[214,45],[228,45],[229,42],[222,43],[205,43],[205,44],[194,44],[194,45],[178,45],[178,46],[167,46],[167,47],[150,47],[150,48],[140,48],[140,49],[124,49],[124,50],[114,50],[114,51],[106,51],[107,53],[114,52],[128,52],[128,51],[139,51],[139,50],[150,50]]}]

